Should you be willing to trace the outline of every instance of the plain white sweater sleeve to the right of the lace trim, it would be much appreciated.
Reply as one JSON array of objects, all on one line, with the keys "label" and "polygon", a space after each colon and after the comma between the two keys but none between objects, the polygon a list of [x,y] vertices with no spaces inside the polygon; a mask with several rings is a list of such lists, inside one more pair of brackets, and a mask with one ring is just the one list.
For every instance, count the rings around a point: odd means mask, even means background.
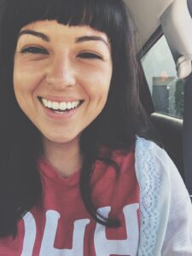
[{"label": "plain white sweater sleeve to the right of the lace trim", "polygon": [[171,205],[162,255],[192,256],[192,205],[172,160],[165,155],[170,173]]}]

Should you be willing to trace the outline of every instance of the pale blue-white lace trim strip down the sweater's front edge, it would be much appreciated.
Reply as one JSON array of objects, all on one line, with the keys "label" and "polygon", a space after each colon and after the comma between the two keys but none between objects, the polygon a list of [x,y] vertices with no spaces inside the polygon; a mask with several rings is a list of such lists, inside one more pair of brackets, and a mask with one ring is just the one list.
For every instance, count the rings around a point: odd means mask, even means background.
[{"label": "pale blue-white lace trim strip down the sweater's front edge", "polygon": [[[157,167],[157,159],[152,151],[151,142],[143,138],[137,138],[136,159],[137,180],[141,190],[141,234],[138,256],[154,256],[157,230],[160,224],[160,212],[158,211],[160,172]],[[155,191],[155,193],[151,193],[152,191]]]}]

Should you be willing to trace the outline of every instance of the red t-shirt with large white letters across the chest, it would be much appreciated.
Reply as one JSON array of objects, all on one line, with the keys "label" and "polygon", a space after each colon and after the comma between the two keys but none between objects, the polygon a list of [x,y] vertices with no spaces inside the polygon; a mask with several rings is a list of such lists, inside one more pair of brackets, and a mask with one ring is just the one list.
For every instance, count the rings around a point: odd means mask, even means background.
[{"label": "red t-shirt with large white letters across the chest", "polygon": [[139,186],[134,152],[113,154],[120,166],[96,162],[93,201],[105,217],[119,218],[118,228],[106,228],[90,217],[79,193],[79,172],[61,177],[39,160],[43,196],[18,224],[15,240],[0,240],[2,256],[135,256],[139,237]]}]

